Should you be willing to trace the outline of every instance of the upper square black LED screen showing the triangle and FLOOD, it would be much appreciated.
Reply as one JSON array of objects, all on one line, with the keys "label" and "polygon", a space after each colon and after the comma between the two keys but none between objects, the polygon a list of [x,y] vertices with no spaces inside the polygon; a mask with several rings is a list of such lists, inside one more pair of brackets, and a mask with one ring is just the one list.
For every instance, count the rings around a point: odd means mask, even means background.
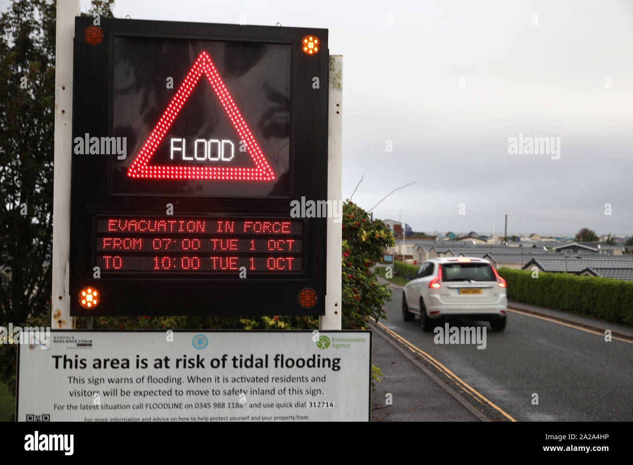
[{"label": "upper square black LED screen showing the triangle and FLOOD", "polygon": [[[290,46],[116,37],[113,194],[287,197]],[[142,82],[142,85],[139,85]]]}]

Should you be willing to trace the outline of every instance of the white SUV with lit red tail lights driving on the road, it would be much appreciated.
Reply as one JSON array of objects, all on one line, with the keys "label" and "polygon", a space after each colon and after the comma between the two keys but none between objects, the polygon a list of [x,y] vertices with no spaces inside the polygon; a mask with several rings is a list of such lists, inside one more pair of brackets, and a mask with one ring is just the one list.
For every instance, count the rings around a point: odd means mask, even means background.
[{"label": "white SUV with lit red tail lights driving on the road", "polygon": [[423,331],[450,317],[489,321],[494,331],[506,327],[506,282],[489,261],[442,257],[425,261],[404,286],[402,316],[420,315]]}]

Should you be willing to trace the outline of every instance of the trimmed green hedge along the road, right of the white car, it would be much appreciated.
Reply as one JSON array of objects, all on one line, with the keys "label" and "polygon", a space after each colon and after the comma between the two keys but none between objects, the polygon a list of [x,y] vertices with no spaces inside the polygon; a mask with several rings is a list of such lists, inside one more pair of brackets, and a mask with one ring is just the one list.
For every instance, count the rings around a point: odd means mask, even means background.
[{"label": "trimmed green hedge along the road, right of the white car", "polygon": [[508,299],[633,326],[633,282],[598,276],[499,268]]}]

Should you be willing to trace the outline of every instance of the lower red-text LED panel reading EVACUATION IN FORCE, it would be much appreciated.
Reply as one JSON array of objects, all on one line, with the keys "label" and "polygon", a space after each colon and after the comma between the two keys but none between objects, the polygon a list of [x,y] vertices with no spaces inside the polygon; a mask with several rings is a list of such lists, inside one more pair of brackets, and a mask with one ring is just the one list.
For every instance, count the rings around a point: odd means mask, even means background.
[{"label": "lower red-text LED panel reading EVACUATION IN FORCE", "polygon": [[111,273],[287,274],[303,271],[301,220],[96,219],[95,261]]}]

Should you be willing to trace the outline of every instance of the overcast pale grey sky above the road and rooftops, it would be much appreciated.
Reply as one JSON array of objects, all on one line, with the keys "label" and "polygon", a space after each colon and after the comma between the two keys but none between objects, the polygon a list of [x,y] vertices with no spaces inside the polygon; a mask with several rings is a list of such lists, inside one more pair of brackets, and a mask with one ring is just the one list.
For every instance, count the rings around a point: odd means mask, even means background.
[{"label": "overcast pale grey sky above the road and rooftops", "polygon": [[[633,1],[115,6],[134,19],[239,23],[242,14],[248,24],[329,29],[330,54],[344,56],[343,197],[362,175],[353,201],[367,209],[417,182],[377,217],[401,210],[414,230],[489,233],[494,209],[496,232],[507,213],[511,233],[633,233]],[[560,137],[560,159],[509,154],[519,133]]]}]

